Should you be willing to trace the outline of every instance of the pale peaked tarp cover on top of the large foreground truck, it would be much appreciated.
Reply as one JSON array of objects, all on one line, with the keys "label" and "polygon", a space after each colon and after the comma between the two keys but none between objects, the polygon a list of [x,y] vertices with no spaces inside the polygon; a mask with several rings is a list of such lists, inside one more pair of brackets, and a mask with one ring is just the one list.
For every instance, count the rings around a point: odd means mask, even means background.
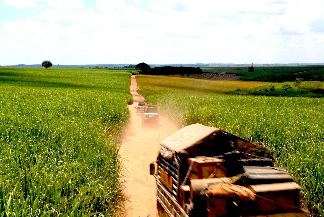
[{"label": "pale peaked tarp cover on top of the large foreground truck", "polygon": [[269,149],[216,127],[192,124],[160,143],[160,154],[171,159],[176,153],[189,156],[216,156],[230,151],[266,156]]}]

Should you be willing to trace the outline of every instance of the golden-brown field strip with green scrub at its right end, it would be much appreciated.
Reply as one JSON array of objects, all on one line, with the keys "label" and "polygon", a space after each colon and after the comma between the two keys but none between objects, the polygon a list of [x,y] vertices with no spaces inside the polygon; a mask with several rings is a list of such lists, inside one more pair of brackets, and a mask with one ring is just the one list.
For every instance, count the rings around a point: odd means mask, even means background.
[{"label": "golden-brown field strip with green scrub at its right end", "polygon": [[[148,93],[192,93],[192,94],[234,94],[262,96],[304,96],[323,97],[323,81],[303,81],[300,87],[295,82],[265,82],[197,79],[172,76],[139,75],[136,77]],[[161,79],[162,78],[162,79]],[[285,91],[284,85],[291,90]],[[272,88],[273,87],[273,91]]]}]

